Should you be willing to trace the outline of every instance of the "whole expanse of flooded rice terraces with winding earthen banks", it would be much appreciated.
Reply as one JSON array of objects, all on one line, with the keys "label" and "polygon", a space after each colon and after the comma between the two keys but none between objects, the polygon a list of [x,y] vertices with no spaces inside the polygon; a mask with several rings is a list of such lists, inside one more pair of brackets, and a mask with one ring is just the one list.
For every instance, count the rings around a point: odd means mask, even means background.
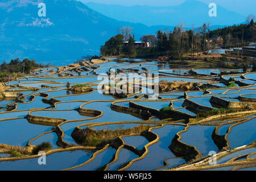
[{"label": "whole expanse of flooded rice terraces with winding earthen banks", "polygon": [[[10,82],[0,98],[1,170],[255,168],[256,73],[106,60],[38,69]],[[133,76],[110,79],[113,69]],[[103,73],[110,80],[104,88]],[[102,91],[119,81],[135,83],[135,92]],[[155,92],[162,81],[192,86]],[[47,165],[39,165],[35,153],[43,145]],[[218,156],[214,164],[207,160],[212,154]],[[203,163],[191,167],[193,159]]]}]

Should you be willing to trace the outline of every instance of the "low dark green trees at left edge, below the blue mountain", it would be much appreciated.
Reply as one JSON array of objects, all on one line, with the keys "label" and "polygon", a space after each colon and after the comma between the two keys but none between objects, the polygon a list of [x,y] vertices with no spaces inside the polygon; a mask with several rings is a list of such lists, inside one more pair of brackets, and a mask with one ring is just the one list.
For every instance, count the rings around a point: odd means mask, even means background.
[{"label": "low dark green trees at left edge, below the blue mountain", "polygon": [[45,68],[45,67],[51,67],[51,64],[43,65],[36,63],[35,60],[28,60],[24,59],[23,61],[20,61],[17,59],[12,59],[10,63],[6,63],[6,61],[3,61],[2,64],[0,64],[0,78],[3,80],[3,78],[9,77],[16,77],[19,73],[30,73],[33,69],[36,68]]}]

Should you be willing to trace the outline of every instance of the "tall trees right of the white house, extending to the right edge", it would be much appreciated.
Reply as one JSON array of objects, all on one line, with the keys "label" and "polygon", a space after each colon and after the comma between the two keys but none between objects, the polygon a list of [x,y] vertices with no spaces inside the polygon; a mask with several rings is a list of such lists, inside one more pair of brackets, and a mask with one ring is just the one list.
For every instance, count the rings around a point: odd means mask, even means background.
[{"label": "tall trees right of the white house, extending to the right edge", "polygon": [[202,27],[185,30],[183,24],[179,24],[174,31],[158,31],[156,35],[156,48],[158,52],[167,52],[173,57],[199,56],[201,52],[208,51],[217,46],[220,36],[223,46],[246,46],[249,42],[256,41],[256,26],[251,19],[248,24],[230,26],[210,31],[209,24]]}]

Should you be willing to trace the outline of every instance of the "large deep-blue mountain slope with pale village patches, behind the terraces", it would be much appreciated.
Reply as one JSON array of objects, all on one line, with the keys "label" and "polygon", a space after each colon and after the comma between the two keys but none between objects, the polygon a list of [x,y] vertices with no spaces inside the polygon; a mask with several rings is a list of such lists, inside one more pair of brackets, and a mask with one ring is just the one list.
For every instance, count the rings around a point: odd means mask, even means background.
[{"label": "large deep-blue mountain slope with pale village patches, behind the terraces", "polygon": [[[46,3],[46,17],[38,16],[39,2]],[[116,13],[122,16],[121,12]],[[2,0],[0,14],[0,63],[27,57],[39,63],[65,65],[81,56],[98,55],[100,46],[123,26],[133,27],[137,40],[158,30],[174,29],[118,21],[75,0]]]}]

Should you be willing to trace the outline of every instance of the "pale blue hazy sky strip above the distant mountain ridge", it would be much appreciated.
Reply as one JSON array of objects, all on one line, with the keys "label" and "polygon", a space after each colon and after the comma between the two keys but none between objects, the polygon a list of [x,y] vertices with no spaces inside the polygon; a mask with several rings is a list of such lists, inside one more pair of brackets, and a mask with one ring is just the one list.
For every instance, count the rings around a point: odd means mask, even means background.
[{"label": "pale blue hazy sky strip above the distant mountain ridge", "polygon": [[[79,0],[82,2],[96,2],[111,5],[148,5],[148,6],[175,6],[180,5],[185,0]],[[255,0],[198,0],[204,3],[216,3],[228,10],[235,11],[242,15],[254,14],[256,15],[256,1]]]}]

